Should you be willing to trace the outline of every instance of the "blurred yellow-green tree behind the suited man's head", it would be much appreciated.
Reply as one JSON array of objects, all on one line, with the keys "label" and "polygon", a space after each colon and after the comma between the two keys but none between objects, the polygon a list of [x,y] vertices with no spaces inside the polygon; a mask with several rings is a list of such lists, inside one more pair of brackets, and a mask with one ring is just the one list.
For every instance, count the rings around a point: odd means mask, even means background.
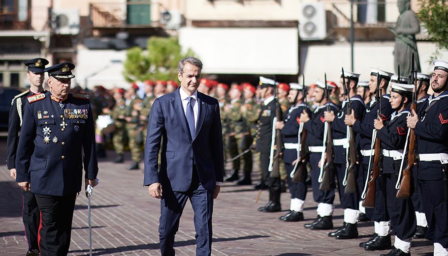
[{"label": "blurred yellow-green tree behind the suited man's head", "polygon": [[123,75],[128,82],[145,80],[177,80],[177,62],[193,56],[189,49],[182,54],[179,41],[174,37],[151,37],[147,50],[130,48],[126,53]]}]

